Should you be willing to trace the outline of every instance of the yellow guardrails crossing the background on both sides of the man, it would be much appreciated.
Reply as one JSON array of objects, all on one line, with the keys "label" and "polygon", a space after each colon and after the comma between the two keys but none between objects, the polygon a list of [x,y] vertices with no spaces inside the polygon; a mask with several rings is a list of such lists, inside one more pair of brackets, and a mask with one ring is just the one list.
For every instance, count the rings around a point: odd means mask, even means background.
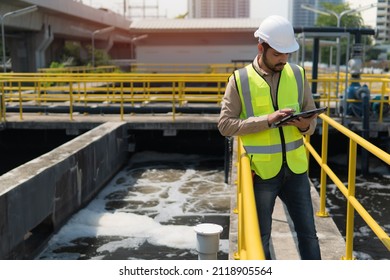
[{"label": "yellow guardrails crossing the background on both sides of the man", "polygon": [[[74,70],[76,71],[76,70]],[[73,119],[72,107],[75,104],[112,103],[121,106],[152,104],[157,102],[172,105],[173,118],[175,109],[188,103],[202,102],[220,104],[227,79],[230,74],[201,73],[4,73],[0,74],[0,90],[2,95],[0,120],[5,118],[6,105],[17,103],[22,118],[23,106],[27,103],[38,105],[50,102],[66,102],[69,104],[70,119]],[[316,101],[329,108],[342,107],[344,101],[361,102],[359,100],[343,100],[336,95],[337,84],[340,92],[345,91],[345,78],[338,81],[333,75],[322,75],[309,82],[317,83]],[[383,122],[384,106],[390,105],[390,79],[387,76],[363,76],[361,84],[367,84],[372,94],[380,98],[370,100],[379,103],[378,122]]]}]

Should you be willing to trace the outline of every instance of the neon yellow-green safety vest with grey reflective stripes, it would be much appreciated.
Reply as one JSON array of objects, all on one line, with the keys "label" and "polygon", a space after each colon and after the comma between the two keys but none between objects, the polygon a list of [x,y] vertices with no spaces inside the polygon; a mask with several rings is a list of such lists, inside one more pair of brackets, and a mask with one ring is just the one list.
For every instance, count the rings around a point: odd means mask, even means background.
[{"label": "neon yellow-green safety vest with grey reflective stripes", "polygon": [[[303,100],[303,71],[303,68],[295,64],[285,65],[279,78],[276,108],[269,85],[252,64],[234,71],[242,103],[240,118],[268,115],[283,108],[293,108],[300,112]],[[252,170],[262,179],[275,177],[284,162],[296,174],[304,173],[308,169],[303,136],[295,126],[270,128],[240,137],[250,158]]]}]

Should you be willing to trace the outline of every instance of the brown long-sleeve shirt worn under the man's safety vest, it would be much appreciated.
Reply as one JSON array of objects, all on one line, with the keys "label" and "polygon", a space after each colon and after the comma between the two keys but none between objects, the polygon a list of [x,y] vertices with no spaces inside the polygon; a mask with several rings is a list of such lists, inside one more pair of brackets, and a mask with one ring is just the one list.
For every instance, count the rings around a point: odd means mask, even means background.
[{"label": "brown long-sleeve shirt worn under the man's safety vest", "polygon": [[[278,82],[280,73],[275,72],[267,74],[262,70],[258,63],[258,57],[253,60],[253,65],[263,79],[268,83],[271,88],[271,95],[274,104],[276,103],[276,91],[278,88]],[[304,97],[302,104],[302,111],[315,109],[315,103],[313,95],[311,93],[309,82],[304,78]],[[282,109],[282,108],[281,108]],[[225,94],[222,100],[221,113],[218,119],[218,129],[223,136],[236,136],[245,135],[250,133],[260,132],[266,129],[270,129],[268,125],[268,115],[249,117],[248,119],[240,119],[241,114],[241,100],[236,88],[236,83],[233,75],[229,78],[229,82],[225,89]],[[314,118],[310,123],[310,128],[301,132],[304,134],[313,134],[317,120]]]}]

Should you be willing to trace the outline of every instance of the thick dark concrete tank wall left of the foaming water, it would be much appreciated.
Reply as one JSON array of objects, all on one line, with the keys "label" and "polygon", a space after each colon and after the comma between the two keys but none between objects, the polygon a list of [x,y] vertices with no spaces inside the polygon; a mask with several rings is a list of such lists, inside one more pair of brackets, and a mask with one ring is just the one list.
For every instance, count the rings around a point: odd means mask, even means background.
[{"label": "thick dark concrete tank wall left of the foaming water", "polygon": [[0,259],[21,258],[43,222],[63,225],[123,166],[127,147],[125,123],[105,123],[1,176]]}]

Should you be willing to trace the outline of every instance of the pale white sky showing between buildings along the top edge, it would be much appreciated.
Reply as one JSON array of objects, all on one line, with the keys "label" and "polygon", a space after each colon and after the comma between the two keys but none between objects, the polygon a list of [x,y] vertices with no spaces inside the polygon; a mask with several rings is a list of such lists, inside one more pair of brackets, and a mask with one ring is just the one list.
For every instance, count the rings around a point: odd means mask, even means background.
[{"label": "pale white sky showing between buildings along the top edge", "polygon": [[[123,1],[124,0],[82,0],[84,4],[109,8],[113,11],[123,14]],[[143,3],[138,0],[127,0],[132,3]],[[251,18],[264,18],[271,14],[277,14],[287,17],[288,14],[288,2],[290,0],[272,0],[272,1],[259,1],[251,0]],[[351,8],[365,7],[372,3],[376,3],[376,0],[348,0]],[[145,0],[145,3],[149,5],[158,6],[159,15],[167,16],[168,18],[174,18],[177,15],[184,14],[187,11],[187,0]],[[157,4],[158,3],[158,4]],[[371,8],[361,12],[365,25],[375,27],[376,26],[376,8]]]}]

